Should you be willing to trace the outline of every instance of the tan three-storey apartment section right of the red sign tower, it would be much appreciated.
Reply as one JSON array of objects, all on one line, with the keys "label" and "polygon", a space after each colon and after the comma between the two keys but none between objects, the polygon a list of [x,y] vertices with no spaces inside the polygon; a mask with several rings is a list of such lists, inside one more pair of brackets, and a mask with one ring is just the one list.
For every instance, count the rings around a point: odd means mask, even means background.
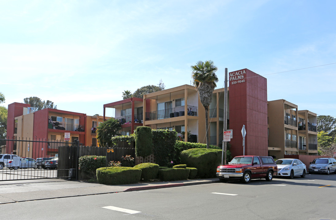
[{"label": "tan three-storey apartment section right of the red sign tower", "polygon": [[268,154],[318,155],[317,114],[284,99],[268,101]]}]

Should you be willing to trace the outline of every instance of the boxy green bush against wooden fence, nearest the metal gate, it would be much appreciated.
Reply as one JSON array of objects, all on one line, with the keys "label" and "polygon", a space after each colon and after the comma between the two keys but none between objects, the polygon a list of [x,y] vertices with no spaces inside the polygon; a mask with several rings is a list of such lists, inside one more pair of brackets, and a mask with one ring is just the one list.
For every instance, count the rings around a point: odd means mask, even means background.
[{"label": "boxy green bush against wooden fence, nearest the metal gate", "polygon": [[106,156],[82,156],[78,159],[78,167],[82,172],[96,177],[96,169],[106,166]]}]

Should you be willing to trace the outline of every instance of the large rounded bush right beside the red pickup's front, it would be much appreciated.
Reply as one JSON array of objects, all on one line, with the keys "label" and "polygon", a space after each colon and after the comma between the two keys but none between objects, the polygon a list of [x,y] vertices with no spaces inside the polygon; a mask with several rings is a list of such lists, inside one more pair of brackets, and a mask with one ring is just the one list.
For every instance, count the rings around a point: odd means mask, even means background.
[{"label": "large rounded bush right beside the red pickup's front", "polygon": [[221,161],[222,150],[198,148],[181,152],[181,163],[197,168],[197,176],[200,178],[216,177],[217,166]]}]

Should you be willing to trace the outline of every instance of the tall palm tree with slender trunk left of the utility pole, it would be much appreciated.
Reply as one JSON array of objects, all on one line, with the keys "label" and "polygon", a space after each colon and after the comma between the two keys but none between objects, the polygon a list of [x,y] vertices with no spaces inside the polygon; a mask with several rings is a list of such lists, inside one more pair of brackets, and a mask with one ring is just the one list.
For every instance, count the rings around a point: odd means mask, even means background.
[{"label": "tall palm tree with slender trunk left of the utility pole", "polygon": [[209,148],[209,124],[208,124],[208,110],[212,99],[212,92],[216,87],[218,78],[215,74],[217,67],[213,61],[207,60],[205,62],[198,61],[195,66],[191,66],[193,85],[200,95],[201,103],[205,109],[205,130],[207,138],[207,148]]}]

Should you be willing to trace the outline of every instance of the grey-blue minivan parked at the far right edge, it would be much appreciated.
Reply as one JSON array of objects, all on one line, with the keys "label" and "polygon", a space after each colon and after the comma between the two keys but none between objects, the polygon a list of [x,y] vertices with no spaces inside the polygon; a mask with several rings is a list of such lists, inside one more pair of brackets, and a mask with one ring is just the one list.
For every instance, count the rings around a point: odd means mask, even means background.
[{"label": "grey-blue minivan parked at the far right edge", "polygon": [[326,173],[330,172],[336,173],[336,160],[332,157],[320,157],[310,162],[308,167],[309,173]]}]

